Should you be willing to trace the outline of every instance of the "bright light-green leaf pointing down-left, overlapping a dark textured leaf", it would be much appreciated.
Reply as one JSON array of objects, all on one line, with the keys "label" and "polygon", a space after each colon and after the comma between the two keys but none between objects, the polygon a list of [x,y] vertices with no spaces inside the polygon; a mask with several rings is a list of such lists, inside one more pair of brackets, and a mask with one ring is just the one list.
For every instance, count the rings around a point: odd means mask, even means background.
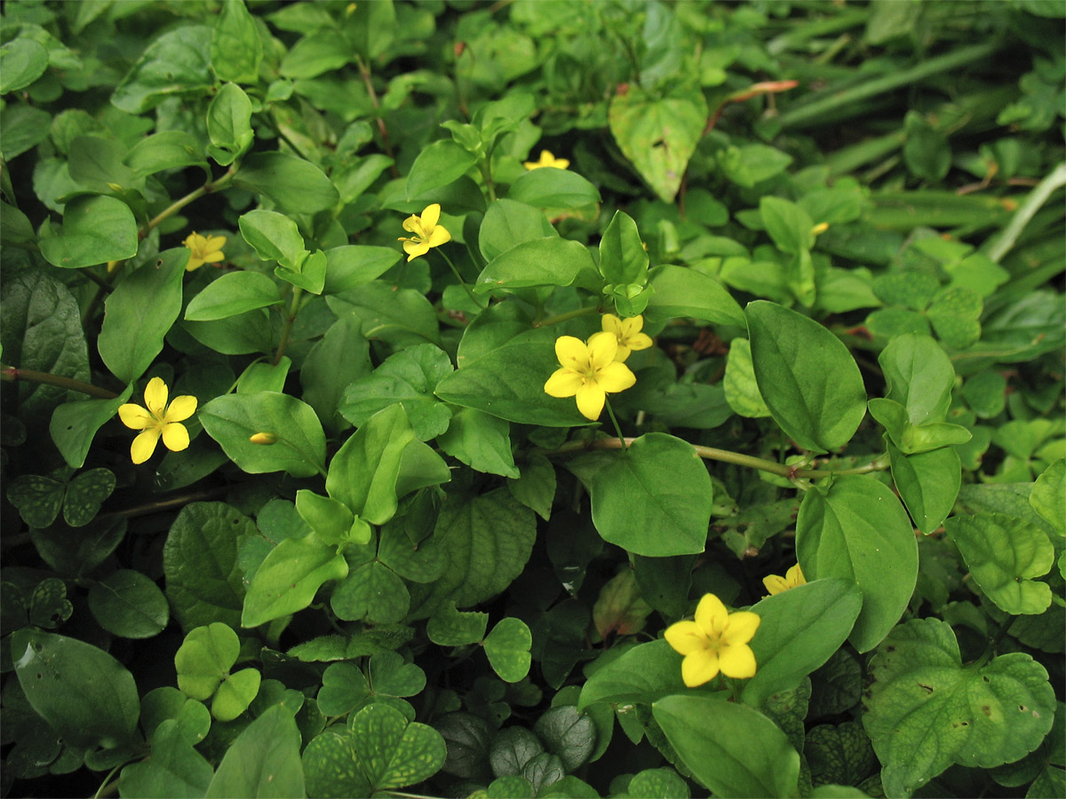
[{"label": "bright light-green leaf pointing down-left, overlapping a dark textured leaf", "polygon": [[256,569],[244,598],[241,626],[259,626],[303,610],[323,583],[343,580],[348,571],[348,561],[335,545],[316,536],[284,539]]}]

